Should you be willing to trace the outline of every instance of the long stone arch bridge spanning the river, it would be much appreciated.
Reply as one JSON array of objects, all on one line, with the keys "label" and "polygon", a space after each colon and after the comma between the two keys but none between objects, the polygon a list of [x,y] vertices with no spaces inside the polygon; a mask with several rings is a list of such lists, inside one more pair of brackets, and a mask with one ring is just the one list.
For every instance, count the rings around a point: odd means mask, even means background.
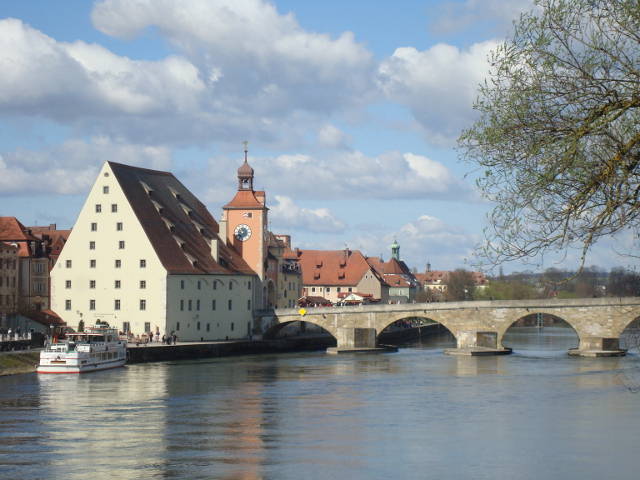
[{"label": "long stone arch bridge spanning the river", "polygon": [[[572,354],[618,354],[622,331],[640,317],[640,298],[579,298],[568,300],[495,300],[481,302],[402,303],[349,307],[254,311],[255,332],[271,338],[284,325],[303,320],[321,326],[338,339],[338,348],[354,348],[355,331],[377,334],[391,323],[411,317],[434,320],[456,337],[457,349],[503,351],[507,329],[527,315],[543,313],[565,320],[578,334],[580,346]],[[345,333],[347,332],[347,333]],[[351,333],[348,333],[351,332]],[[369,345],[375,346],[375,345]]]}]

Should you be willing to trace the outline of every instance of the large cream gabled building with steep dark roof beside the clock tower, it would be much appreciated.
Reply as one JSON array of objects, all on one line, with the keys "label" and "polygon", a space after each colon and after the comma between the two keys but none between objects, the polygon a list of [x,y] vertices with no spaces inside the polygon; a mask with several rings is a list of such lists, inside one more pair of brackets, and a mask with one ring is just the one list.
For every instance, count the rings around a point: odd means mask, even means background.
[{"label": "large cream gabled building with steep dark roof beside the clock tower", "polygon": [[256,280],[171,173],[106,162],[51,272],[52,310],[70,326],[241,338],[262,301]]}]

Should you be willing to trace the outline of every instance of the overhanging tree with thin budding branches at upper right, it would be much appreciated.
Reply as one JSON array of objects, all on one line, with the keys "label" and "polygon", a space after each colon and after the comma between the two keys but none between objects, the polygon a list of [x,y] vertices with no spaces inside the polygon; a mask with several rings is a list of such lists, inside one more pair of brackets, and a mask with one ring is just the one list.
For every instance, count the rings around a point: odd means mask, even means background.
[{"label": "overhanging tree with thin budding branches at upper right", "polygon": [[479,117],[458,140],[497,204],[478,256],[577,248],[582,268],[598,239],[640,224],[640,6],[535,4],[490,55]]}]

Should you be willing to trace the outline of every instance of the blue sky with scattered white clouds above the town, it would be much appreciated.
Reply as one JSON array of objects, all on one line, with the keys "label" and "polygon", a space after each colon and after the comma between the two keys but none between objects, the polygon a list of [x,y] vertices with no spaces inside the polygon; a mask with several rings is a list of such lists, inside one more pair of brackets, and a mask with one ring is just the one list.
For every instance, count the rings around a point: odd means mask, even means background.
[{"label": "blue sky with scattered white clouds above the town", "polygon": [[[247,141],[271,230],[292,246],[388,260],[397,239],[419,272],[468,267],[492,205],[456,139],[489,52],[532,8],[0,0],[0,215],[71,228],[113,161],[173,173],[219,220]],[[626,266],[628,244],[601,242],[587,264]]]}]

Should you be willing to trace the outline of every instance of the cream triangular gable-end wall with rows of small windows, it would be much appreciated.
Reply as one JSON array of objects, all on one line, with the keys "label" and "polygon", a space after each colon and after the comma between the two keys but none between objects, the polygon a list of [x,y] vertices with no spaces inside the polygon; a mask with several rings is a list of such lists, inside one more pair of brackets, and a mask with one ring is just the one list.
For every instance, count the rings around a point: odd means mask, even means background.
[{"label": "cream triangular gable-end wall with rows of small windows", "polygon": [[[108,187],[108,193],[104,187]],[[96,212],[96,205],[101,206],[100,212]],[[116,212],[112,212],[112,205],[117,205]],[[122,230],[118,230],[119,223]],[[124,248],[120,248],[121,241]],[[90,242],[95,242],[95,248],[91,248]],[[96,262],[95,267],[91,266],[92,260]],[[116,260],[120,260],[119,268]],[[144,267],[141,260],[145,261]],[[70,267],[68,261],[71,261]],[[166,276],[166,270],[105,163],[51,272],[52,309],[69,326],[77,326],[81,319],[85,325],[100,319],[121,330],[124,322],[128,322],[134,335],[144,333],[145,323],[152,329],[158,326],[162,332],[166,318]],[[71,282],[70,286],[67,281]],[[119,288],[116,281],[120,282]],[[146,288],[141,288],[141,281]],[[71,302],[70,308],[67,300]],[[91,300],[95,300],[95,310],[91,310]],[[116,300],[120,302],[120,309],[116,308]],[[141,310],[141,300],[145,300],[144,310]]]}]

